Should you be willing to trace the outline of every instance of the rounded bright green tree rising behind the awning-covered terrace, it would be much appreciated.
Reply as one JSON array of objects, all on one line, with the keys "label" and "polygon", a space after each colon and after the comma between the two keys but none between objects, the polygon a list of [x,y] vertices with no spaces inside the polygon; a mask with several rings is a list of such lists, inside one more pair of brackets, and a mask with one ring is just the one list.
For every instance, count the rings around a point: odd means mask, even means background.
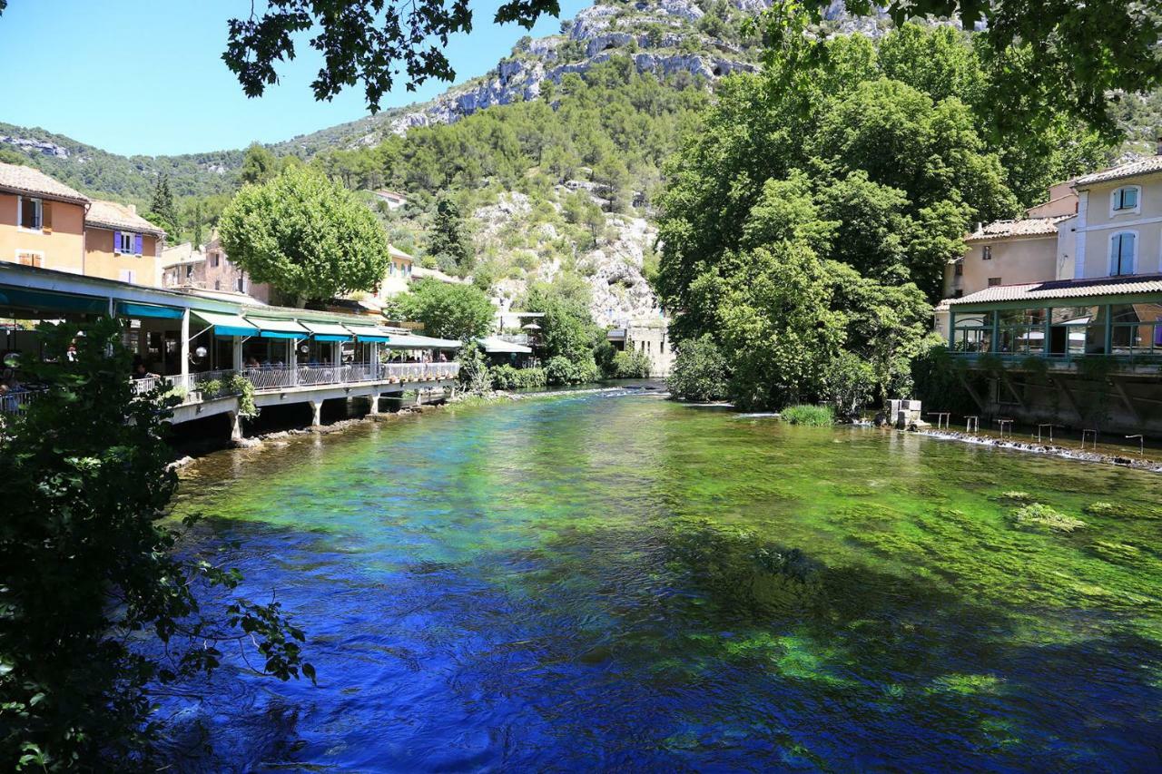
[{"label": "rounded bright green tree rising behind the awning-covered terrace", "polygon": [[256,282],[300,302],[371,291],[389,261],[375,215],[307,167],[239,191],[222,213],[220,236],[230,260]]}]

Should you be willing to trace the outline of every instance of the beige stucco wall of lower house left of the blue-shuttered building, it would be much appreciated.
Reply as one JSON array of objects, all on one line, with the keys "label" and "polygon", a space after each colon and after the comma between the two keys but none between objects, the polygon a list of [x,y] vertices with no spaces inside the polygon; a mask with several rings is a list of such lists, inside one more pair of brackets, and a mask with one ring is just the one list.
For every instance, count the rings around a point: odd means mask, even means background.
[{"label": "beige stucco wall of lower house left of the blue-shuttered building", "polygon": [[[984,260],[984,246],[992,248],[992,259]],[[989,279],[1000,278],[1000,285],[1043,282],[1057,275],[1057,237],[1019,237],[973,242],[966,246],[964,273],[956,277],[955,266],[945,266],[945,298],[970,295],[989,287]]]}]

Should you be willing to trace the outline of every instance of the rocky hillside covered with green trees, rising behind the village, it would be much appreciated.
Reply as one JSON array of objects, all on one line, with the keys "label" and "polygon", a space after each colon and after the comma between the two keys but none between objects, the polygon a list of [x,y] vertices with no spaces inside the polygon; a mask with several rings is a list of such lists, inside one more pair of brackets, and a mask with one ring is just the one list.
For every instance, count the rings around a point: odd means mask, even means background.
[{"label": "rocky hillside covered with green trees, rising behind the village", "polygon": [[[658,264],[654,221],[664,162],[683,137],[697,135],[716,91],[729,83],[723,78],[741,73],[745,80],[759,71],[762,41],[745,21],[766,5],[602,0],[562,21],[559,35],[522,40],[488,74],[431,102],[265,149],[121,157],[40,129],[0,124],[0,155],[87,193],[144,206],[164,175],[177,198],[172,239],[207,235],[243,182],[266,179],[287,164],[309,164],[352,189],[403,192],[408,207],[379,207],[380,215],[392,241],[424,265],[471,277],[504,302],[517,302],[536,282],[580,288],[598,321],[617,322],[655,311],[648,280]],[[888,29],[882,16],[851,19],[834,10],[819,31],[878,40]],[[952,37],[962,40],[960,33]],[[930,53],[892,55],[898,62],[881,66],[935,100],[951,95],[973,106],[995,99],[974,69],[970,45]],[[911,109],[904,108],[902,121],[911,119]],[[1162,98],[1126,98],[1117,112],[1127,148],[1141,148],[1159,126]],[[987,127],[974,129],[989,139]],[[968,179],[1000,174],[995,181],[1011,198],[1003,207],[984,206],[981,216],[1032,203],[1049,178],[1097,164],[1110,150],[1069,123],[1034,134],[1038,143],[989,141],[1003,172],[990,167],[988,175]],[[810,165],[804,171],[816,173]],[[939,220],[938,213],[909,217],[916,234],[937,238],[923,218]],[[962,213],[956,228],[964,218]],[[955,241],[952,230],[939,238]],[[449,232],[458,234],[465,249],[450,251]],[[930,275],[917,279],[931,292]]]}]

